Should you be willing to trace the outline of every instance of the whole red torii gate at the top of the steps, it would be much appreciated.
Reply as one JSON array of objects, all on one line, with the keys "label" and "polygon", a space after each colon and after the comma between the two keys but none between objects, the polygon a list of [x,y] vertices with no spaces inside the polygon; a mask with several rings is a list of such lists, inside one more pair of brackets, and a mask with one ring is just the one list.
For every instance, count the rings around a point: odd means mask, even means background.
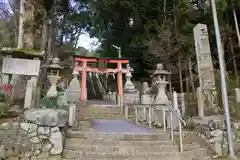
[{"label": "whole red torii gate at the top of the steps", "polygon": [[[82,81],[81,81],[81,100],[86,101],[86,83],[87,83],[87,72],[94,73],[117,73],[117,83],[118,83],[118,96],[123,100],[123,82],[122,82],[122,73],[127,73],[128,69],[123,69],[122,64],[129,63],[127,59],[107,59],[107,58],[91,58],[91,57],[78,57],[75,58],[76,62],[80,64],[75,64],[74,71],[81,72]],[[117,68],[91,68],[87,66],[87,63],[112,63],[117,64]]]}]

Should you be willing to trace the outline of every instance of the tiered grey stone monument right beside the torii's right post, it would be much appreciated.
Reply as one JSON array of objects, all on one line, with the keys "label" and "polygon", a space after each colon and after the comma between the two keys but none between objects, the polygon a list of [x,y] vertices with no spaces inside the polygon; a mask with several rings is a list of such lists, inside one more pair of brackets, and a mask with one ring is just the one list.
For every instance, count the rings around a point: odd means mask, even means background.
[{"label": "tiered grey stone monument right beside the torii's right post", "polygon": [[135,88],[134,84],[131,81],[133,68],[127,64],[128,72],[126,73],[126,82],[124,84],[124,104],[139,104],[139,91]]}]

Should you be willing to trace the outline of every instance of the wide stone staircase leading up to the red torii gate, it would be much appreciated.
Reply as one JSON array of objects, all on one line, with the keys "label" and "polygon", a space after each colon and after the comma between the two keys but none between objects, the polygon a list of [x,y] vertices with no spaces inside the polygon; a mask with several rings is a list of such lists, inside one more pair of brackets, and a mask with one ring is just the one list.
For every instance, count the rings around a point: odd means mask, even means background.
[{"label": "wide stone staircase leading up to the red torii gate", "polygon": [[80,126],[66,134],[65,160],[211,160],[207,150],[192,141],[185,143],[180,153],[169,134],[159,129],[153,134],[96,132],[93,119],[125,119],[118,107],[78,106],[76,115]]}]

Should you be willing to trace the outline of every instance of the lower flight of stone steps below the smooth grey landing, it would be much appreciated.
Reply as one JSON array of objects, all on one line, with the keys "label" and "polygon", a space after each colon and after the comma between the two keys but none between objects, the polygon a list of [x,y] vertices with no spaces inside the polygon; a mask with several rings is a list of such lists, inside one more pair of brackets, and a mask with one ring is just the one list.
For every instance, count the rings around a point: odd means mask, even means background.
[{"label": "lower flight of stone steps below the smooth grey landing", "polygon": [[68,133],[64,156],[67,159],[179,160],[177,147],[167,134],[119,135],[94,132]]}]

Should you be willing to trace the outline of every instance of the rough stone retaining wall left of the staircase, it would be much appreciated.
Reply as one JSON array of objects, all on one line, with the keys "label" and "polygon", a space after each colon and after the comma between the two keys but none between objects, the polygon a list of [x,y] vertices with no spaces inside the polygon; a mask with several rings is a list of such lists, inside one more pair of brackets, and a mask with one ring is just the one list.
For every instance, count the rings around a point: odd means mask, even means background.
[{"label": "rough stone retaining wall left of the staircase", "polygon": [[[56,110],[42,109],[45,113],[56,112]],[[51,112],[50,112],[51,111]],[[43,114],[36,110],[25,113],[25,119],[3,123],[0,126],[0,159],[4,160],[59,160],[63,151],[65,136],[65,125],[59,125],[56,122],[60,119],[54,119],[48,116],[52,123],[42,125]],[[32,115],[30,115],[32,114]],[[32,118],[30,120],[30,118]],[[46,118],[46,117],[45,117]],[[55,117],[56,118],[56,117]],[[66,115],[62,116],[66,121]],[[47,122],[47,121],[45,121]],[[49,122],[49,121],[48,121]],[[52,125],[55,124],[55,125]],[[66,124],[66,123],[64,123]]]}]

